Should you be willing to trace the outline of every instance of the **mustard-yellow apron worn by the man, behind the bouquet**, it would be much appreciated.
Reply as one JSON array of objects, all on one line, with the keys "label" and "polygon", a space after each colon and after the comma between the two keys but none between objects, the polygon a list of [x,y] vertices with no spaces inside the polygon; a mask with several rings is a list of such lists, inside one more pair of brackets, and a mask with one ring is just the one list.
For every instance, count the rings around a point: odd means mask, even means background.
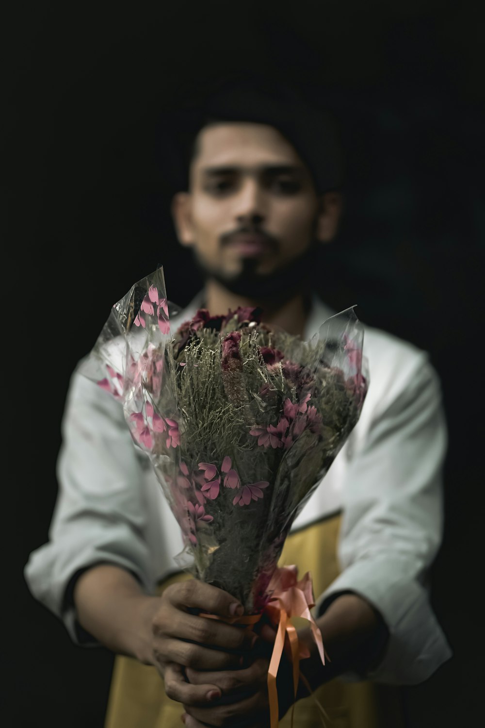
[{"label": "mustard-yellow apron worn by the man, behind the bouquet", "polygon": [[[340,515],[313,523],[289,534],[280,565],[297,564],[300,577],[310,571],[313,590],[321,594],[340,573],[337,540]],[[175,574],[160,586],[191,578]],[[294,728],[401,728],[404,727],[399,692],[369,681],[345,682],[335,678],[316,690],[315,697],[328,719],[322,723],[313,697],[299,700],[294,708]],[[164,692],[155,668],[117,655],[113,666],[105,728],[180,728],[183,707]],[[289,728],[291,711],[281,721]]]}]

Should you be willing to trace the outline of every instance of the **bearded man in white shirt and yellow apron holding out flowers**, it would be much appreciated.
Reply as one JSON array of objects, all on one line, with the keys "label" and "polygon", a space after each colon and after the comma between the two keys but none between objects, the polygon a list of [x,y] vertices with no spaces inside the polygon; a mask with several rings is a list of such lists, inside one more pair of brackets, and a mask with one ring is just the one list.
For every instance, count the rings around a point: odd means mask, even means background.
[{"label": "bearded man in white shirt and yellow apron holding out flowers", "polygon": [[[309,127],[316,116],[296,97],[290,113],[284,95],[254,85],[249,96],[232,86],[215,98],[191,148],[187,189],[172,204],[204,288],[172,325],[200,307],[261,306],[265,322],[310,336],[332,314],[309,289],[316,248],[334,239],[342,212],[330,157],[322,173],[326,159],[311,160],[305,147],[305,114]],[[316,692],[300,684],[296,726],[316,724],[315,697],[342,726],[398,726],[380,687],[424,681],[450,656],[426,589],[442,530],[438,379],[425,352],[381,331],[366,328],[364,354],[371,383],[361,419],[282,555],[312,573],[329,655],[322,666],[300,630],[310,650],[302,673]],[[75,641],[119,656],[106,727],[168,728],[180,717],[188,728],[268,725],[273,631],[248,636],[198,616],[230,617],[241,606],[180,573],[179,529],[120,405],[77,371],[58,475],[50,540],[25,577]],[[278,681],[288,719],[289,662]]]}]

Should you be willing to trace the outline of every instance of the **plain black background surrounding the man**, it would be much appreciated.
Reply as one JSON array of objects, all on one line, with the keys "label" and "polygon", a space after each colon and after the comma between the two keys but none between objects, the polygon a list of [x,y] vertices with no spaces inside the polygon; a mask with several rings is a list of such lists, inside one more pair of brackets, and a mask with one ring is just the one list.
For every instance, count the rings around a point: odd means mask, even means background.
[{"label": "plain black background surrounding the man", "polygon": [[[9,202],[4,724],[103,726],[111,654],[71,644],[23,579],[47,540],[68,379],[111,305],[163,263],[169,298],[199,280],[175,240],[160,114],[222,70],[300,82],[342,129],[346,213],[321,295],[428,349],[449,421],[433,604],[454,657],[404,690],[409,726],[481,722],[484,54],[478,2],[24,2],[7,31]],[[169,145],[169,140],[167,141]],[[162,151],[161,151],[162,150]],[[167,157],[168,159],[168,157]],[[176,282],[177,281],[177,282]],[[5,290],[5,289],[4,289]],[[12,700],[13,699],[13,700]],[[9,711],[12,711],[9,713]],[[3,722],[3,721],[2,721]]]}]

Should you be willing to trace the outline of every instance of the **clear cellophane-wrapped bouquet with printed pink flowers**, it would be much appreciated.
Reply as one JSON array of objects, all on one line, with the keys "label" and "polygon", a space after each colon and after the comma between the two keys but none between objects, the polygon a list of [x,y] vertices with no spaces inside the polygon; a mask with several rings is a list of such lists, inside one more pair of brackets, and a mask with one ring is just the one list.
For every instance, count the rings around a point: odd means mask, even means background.
[{"label": "clear cellophane-wrapped bouquet with printed pink flowers", "polygon": [[85,376],[120,401],[183,534],[180,568],[257,614],[292,523],[358,422],[369,385],[353,306],[308,341],[260,309],[171,320],[163,268],[111,309]]}]

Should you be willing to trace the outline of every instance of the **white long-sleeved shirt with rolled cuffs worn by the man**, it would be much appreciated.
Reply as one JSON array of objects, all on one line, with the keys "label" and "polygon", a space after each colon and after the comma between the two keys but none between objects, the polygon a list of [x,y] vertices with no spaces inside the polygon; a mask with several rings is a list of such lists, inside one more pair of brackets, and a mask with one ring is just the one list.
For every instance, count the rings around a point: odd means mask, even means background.
[{"label": "white long-sleeved shirt with rolled cuffs worn by the man", "polygon": [[[191,318],[200,304],[199,295],[172,327]],[[315,296],[305,337],[333,314]],[[443,530],[447,433],[441,389],[428,354],[388,333],[364,326],[364,355],[370,385],[360,419],[292,529],[342,510],[342,573],[316,595],[316,610],[342,590],[366,598],[382,614],[390,638],[380,665],[365,677],[415,684],[452,655],[427,587]],[[131,571],[152,592],[180,570],[174,559],[183,541],[120,403],[78,368],[62,433],[49,541],[29,556],[25,579],[73,641],[93,644],[65,600],[73,576],[108,561]]]}]

